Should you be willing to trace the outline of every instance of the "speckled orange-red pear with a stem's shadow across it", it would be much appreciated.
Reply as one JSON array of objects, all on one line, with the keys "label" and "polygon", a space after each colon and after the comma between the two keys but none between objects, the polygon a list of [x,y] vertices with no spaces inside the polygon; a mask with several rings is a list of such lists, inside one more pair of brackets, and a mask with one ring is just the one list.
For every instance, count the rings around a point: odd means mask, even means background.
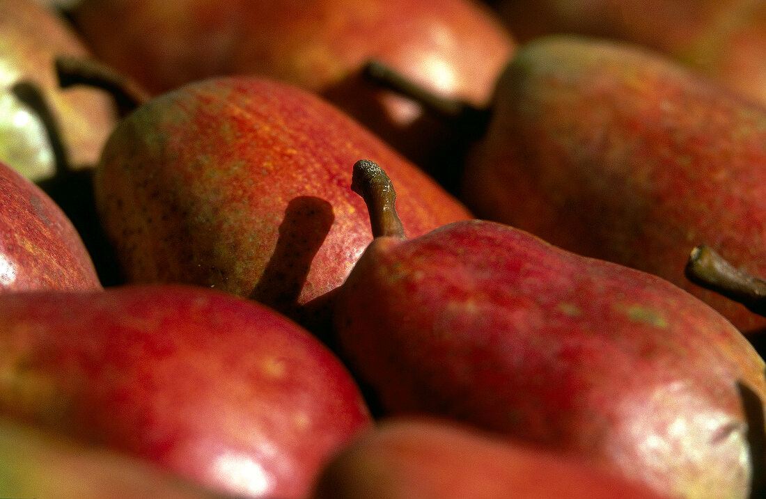
[{"label": "speckled orange-red pear with a stem's shadow across it", "polygon": [[316,96],[223,77],[123,120],[96,171],[97,207],[132,282],[188,282],[286,313],[342,284],[372,241],[351,190],[385,165],[408,235],[472,217],[426,174]]}]

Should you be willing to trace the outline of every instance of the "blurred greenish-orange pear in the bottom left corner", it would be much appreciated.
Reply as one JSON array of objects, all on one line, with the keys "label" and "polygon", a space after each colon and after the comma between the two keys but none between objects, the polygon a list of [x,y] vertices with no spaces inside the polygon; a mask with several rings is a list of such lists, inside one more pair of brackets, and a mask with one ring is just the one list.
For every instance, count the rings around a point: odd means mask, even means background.
[{"label": "blurred greenish-orange pear in the bottom left corner", "polygon": [[214,499],[149,462],[0,418],[0,493],[46,499]]}]

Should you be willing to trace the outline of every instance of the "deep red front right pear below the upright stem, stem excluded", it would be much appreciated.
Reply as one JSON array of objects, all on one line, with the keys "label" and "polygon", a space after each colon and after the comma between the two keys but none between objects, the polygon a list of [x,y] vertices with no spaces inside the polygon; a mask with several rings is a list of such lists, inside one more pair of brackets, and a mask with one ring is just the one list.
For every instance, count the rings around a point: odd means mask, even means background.
[{"label": "deep red front right pear below the upright stem, stem excluded", "polygon": [[736,383],[763,400],[764,362],[663,279],[475,220],[376,239],[336,305],[340,351],[389,413],[575,452],[660,494],[748,497]]}]

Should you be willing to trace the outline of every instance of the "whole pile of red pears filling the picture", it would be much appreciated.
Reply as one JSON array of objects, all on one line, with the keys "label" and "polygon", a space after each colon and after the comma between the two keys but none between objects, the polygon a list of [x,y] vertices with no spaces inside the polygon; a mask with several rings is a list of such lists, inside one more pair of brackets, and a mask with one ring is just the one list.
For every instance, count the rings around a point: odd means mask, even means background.
[{"label": "whole pile of red pears filling the picture", "polygon": [[[12,438],[195,495],[428,497],[454,474],[476,497],[763,497],[766,104],[665,45],[558,33],[556,2],[523,41],[520,0],[415,2],[460,26],[448,88],[443,47],[402,34],[412,2],[129,3],[70,8],[93,52],[8,85],[54,163],[0,158]],[[87,165],[70,92],[109,122]]]}]

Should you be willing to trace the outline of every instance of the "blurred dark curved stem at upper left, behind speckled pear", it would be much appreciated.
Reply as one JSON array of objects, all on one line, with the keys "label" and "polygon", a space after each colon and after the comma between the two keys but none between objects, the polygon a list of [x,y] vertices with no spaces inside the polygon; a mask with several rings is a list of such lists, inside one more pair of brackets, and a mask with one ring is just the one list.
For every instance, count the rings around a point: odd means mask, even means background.
[{"label": "blurred dark curved stem at upper left, behind speckled pear", "polygon": [[151,96],[136,81],[99,60],[87,57],[59,56],[55,66],[59,86],[94,86],[109,92],[120,116],[126,116]]}]

